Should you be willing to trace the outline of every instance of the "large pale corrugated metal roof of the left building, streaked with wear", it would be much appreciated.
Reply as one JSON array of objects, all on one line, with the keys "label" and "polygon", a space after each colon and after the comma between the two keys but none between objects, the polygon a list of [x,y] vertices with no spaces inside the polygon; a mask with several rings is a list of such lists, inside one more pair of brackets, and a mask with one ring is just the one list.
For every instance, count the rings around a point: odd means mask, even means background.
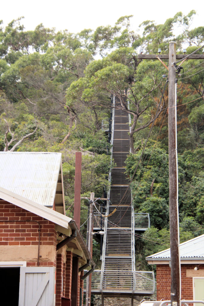
[{"label": "large pale corrugated metal roof of the left building, streaked with wear", "polygon": [[44,206],[53,206],[61,153],[0,152],[0,186]]}]

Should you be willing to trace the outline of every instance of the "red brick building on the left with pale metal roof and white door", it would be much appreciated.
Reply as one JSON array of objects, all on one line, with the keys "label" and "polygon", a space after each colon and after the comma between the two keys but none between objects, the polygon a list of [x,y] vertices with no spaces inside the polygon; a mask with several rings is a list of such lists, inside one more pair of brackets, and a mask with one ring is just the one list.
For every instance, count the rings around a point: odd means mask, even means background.
[{"label": "red brick building on the left with pale metal roof and white door", "polygon": [[61,154],[0,152],[0,173],[1,302],[81,305],[83,269],[94,263],[64,215]]}]

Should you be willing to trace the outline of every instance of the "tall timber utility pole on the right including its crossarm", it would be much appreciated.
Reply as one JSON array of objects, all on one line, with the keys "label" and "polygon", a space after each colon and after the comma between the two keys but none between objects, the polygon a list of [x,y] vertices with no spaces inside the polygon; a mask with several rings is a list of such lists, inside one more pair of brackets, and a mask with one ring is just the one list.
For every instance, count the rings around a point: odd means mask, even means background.
[{"label": "tall timber utility pole on the right including its crossarm", "polygon": [[[158,51],[159,52],[159,51]],[[160,50],[161,52],[161,50]],[[169,222],[171,254],[171,306],[181,305],[180,242],[178,214],[178,163],[177,163],[177,129],[176,129],[176,59],[204,59],[203,54],[176,55],[176,42],[169,43],[169,55],[139,54],[139,59],[158,59],[169,70]],[[169,59],[169,68],[162,62]],[[180,65],[184,62],[180,63]],[[180,71],[179,71],[180,72]]]}]

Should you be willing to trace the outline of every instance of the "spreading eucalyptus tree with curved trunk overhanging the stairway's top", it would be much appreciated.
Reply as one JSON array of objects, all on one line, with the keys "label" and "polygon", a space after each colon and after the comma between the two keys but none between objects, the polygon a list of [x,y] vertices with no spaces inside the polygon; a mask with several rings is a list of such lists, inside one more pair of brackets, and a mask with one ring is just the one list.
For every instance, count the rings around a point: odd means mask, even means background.
[{"label": "spreading eucalyptus tree with curved trunk overhanging the stairway's top", "polygon": [[[140,63],[140,64],[139,64]],[[67,105],[110,107],[110,95],[120,101],[117,108],[131,114],[130,147],[134,153],[134,134],[150,126],[162,111],[158,91],[162,91],[163,68],[157,62],[140,62],[133,48],[119,48],[106,58],[91,62],[85,76],[67,90]],[[129,108],[126,103],[128,93]],[[140,120],[138,120],[140,119]]]}]

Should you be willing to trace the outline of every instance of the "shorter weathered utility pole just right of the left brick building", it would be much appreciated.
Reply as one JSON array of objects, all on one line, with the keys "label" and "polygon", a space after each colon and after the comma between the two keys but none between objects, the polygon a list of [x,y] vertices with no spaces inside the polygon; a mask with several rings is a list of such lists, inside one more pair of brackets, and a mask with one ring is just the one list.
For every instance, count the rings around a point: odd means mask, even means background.
[{"label": "shorter weathered utility pole just right of the left brick building", "polygon": [[[93,253],[93,225],[94,225],[94,216],[93,216],[93,203],[94,201],[94,192],[91,192],[90,196],[90,217],[89,217],[89,228],[88,228],[88,241],[87,246],[90,252],[91,258]],[[87,277],[87,288],[86,288],[86,306],[91,306],[91,274]]]}]

